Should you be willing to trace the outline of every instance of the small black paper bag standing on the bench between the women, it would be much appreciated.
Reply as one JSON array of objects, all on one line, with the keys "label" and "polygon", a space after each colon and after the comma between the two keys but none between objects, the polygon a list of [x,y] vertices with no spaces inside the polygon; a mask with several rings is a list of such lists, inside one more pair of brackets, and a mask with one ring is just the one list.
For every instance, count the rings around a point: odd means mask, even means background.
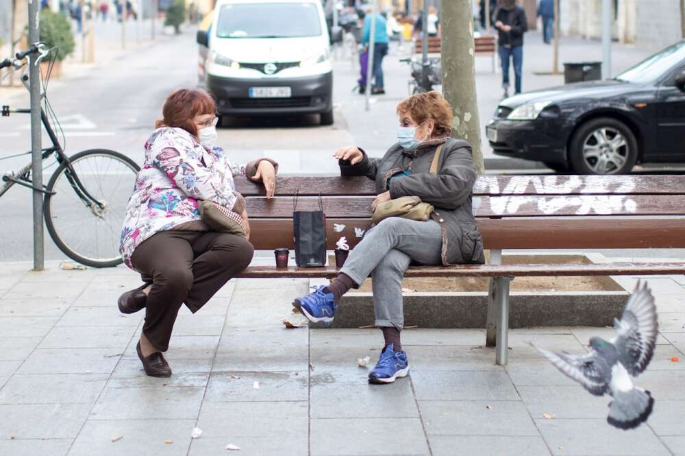
[{"label": "small black paper bag standing on the bench between the women", "polygon": [[295,235],[295,263],[299,267],[321,267],[326,264],[326,216],[319,195],[320,211],[297,211],[297,194],[292,211]]}]

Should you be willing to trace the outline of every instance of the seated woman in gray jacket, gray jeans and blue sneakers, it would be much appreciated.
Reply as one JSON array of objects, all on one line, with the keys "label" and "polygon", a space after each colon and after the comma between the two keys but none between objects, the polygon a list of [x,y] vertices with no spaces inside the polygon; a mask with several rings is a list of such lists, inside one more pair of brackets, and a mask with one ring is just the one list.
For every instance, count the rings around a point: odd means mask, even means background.
[{"label": "seated woman in gray jacket, gray jeans and blue sneakers", "polygon": [[[370,383],[393,383],[409,372],[400,331],[402,278],[410,263],[447,266],[485,261],[471,206],[476,179],[471,145],[449,136],[451,107],[437,92],[420,93],[401,101],[397,115],[398,142],[383,158],[369,158],[358,147],[339,149],[334,158],[342,176],[375,180],[374,209],[395,198],[418,196],[435,207],[434,213],[428,221],[384,219],[366,232],[331,285],[293,303],[312,322],[332,322],[340,297],[371,274],[375,326],[382,329],[385,346],[369,373]],[[434,174],[429,169],[439,145],[443,148]]]}]

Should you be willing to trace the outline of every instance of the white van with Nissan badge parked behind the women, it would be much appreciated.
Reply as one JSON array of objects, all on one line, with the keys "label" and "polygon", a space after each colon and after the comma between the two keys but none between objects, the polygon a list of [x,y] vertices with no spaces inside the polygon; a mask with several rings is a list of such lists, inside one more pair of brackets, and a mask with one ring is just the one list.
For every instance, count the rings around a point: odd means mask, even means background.
[{"label": "white van with Nissan badge parked behind the women", "polygon": [[203,78],[219,115],[321,113],[333,123],[333,67],[321,0],[219,0]]}]

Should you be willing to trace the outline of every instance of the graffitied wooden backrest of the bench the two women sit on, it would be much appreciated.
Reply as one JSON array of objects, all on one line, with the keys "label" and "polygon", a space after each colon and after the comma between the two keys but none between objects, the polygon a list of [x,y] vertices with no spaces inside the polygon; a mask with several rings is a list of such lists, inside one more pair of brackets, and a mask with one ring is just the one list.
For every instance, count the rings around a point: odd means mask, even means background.
[{"label": "graffitied wooden backrest of the bench the two women sit on", "polygon": [[[373,181],[279,177],[276,195],[236,179],[258,250],[292,248],[292,205],[314,211],[319,193],[329,248],[356,245],[371,224]],[[685,176],[481,176],[474,214],[489,249],[685,248]]]}]

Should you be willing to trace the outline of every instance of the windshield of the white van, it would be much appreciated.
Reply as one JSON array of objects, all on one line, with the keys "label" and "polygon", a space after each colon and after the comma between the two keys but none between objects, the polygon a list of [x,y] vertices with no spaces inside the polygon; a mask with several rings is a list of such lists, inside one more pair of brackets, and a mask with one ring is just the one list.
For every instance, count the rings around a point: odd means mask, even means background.
[{"label": "windshield of the white van", "polygon": [[299,38],[321,36],[314,3],[236,3],[219,14],[219,38]]}]

